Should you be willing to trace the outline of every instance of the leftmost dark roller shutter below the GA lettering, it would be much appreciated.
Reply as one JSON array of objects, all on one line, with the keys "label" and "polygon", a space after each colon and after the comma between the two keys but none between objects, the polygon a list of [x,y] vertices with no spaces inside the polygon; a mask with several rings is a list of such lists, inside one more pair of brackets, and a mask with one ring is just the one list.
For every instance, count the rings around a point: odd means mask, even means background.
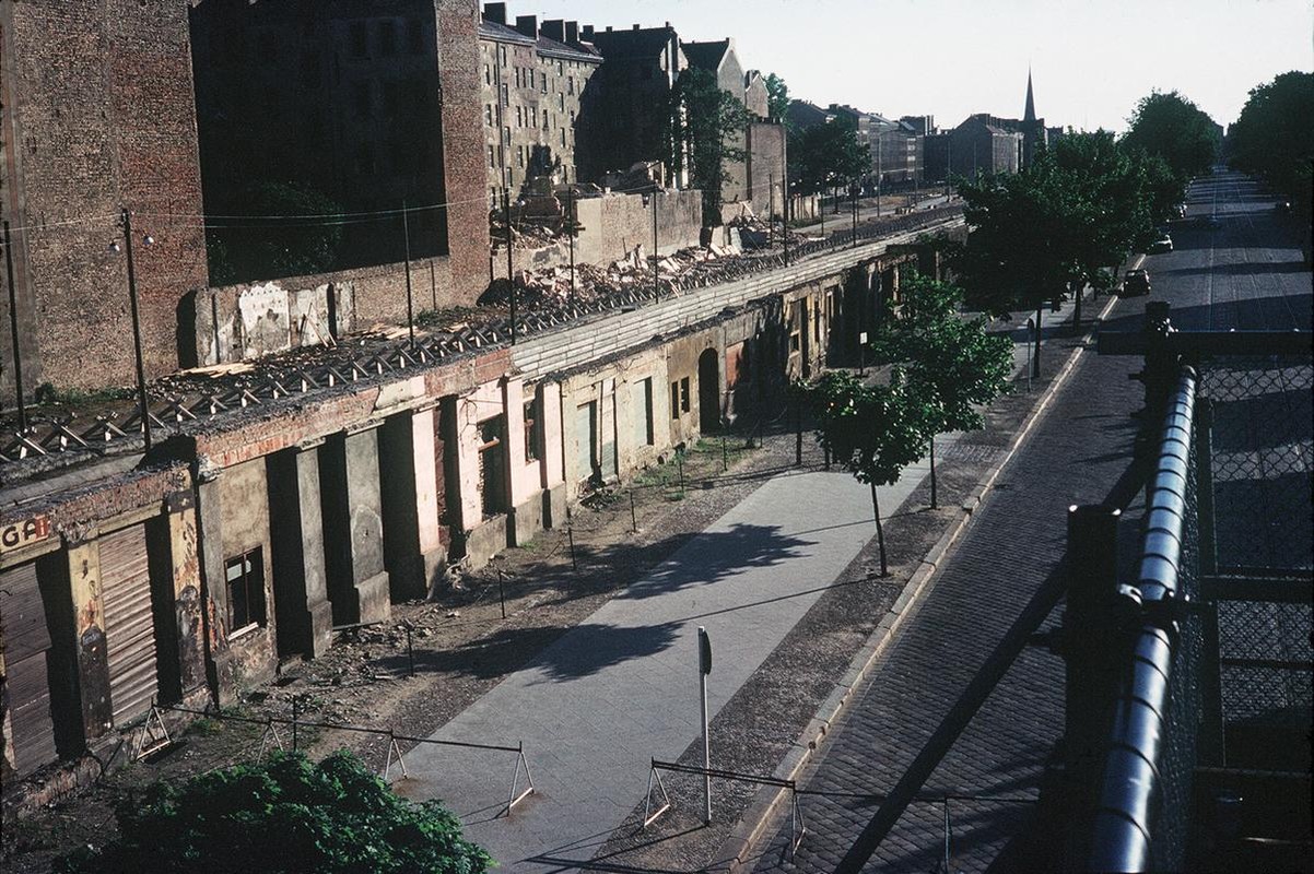
[{"label": "leftmost dark roller shutter below the GA lettering", "polygon": [[34,564],[0,575],[0,626],[4,633],[14,768],[18,774],[26,774],[55,759],[55,728],[46,676],[50,631]]}]

